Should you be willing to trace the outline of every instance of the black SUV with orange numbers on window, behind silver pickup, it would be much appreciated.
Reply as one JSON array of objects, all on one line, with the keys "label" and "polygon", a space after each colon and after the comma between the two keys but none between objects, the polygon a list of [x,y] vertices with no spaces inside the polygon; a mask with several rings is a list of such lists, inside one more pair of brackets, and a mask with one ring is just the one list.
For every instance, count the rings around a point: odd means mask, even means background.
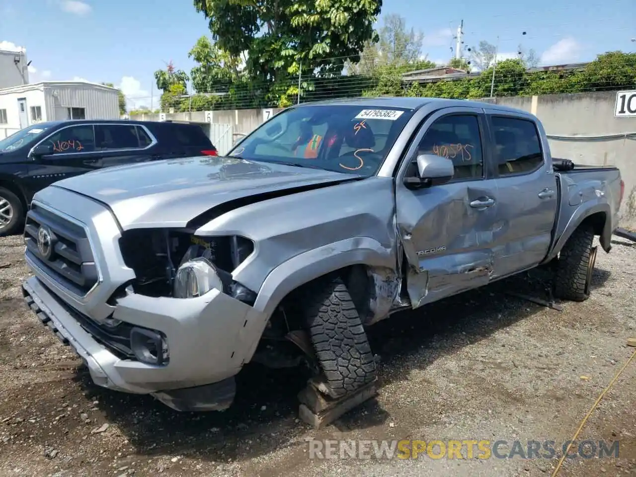
[{"label": "black SUV with orange numbers on window, behind silver pickup", "polygon": [[31,198],[50,184],[103,167],[212,155],[195,124],[71,120],[31,125],[0,141],[0,237],[20,232]]}]

